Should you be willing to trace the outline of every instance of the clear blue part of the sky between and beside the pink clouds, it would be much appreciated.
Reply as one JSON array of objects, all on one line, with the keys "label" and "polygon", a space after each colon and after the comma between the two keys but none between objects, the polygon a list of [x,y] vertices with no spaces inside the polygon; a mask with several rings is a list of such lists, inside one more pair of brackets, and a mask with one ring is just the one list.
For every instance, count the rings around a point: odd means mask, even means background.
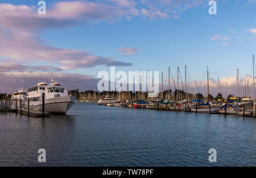
[{"label": "clear blue part of the sky between and beside the pink clouds", "polygon": [[[34,6],[34,9],[38,7],[37,2],[1,1],[15,6]],[[64,1],[46,1],[47,11],[59,2]],[[11,28],[12,31],[20,28],[22,31],[36,34],[36,38],[43,40],[43,44],[50,47],[80,50],[132,64],[119,65],[117,70],[150,69],[163,72],[164,78],[167,79],[168,66],[176,77],[177,66],[180,67],[181,73],[184,73],[184,65],[187,65],[191,80],[199,81],[204,80],[203,73],[207,66],[210,77],[215,80],[217,77],[236,76],[237,68],[240,69],[241,77],[251,74],[251,60],[256,53],[256,32],[253,31],[256,29],[255,1],[217,1],[217,15],[209,15],[208,1],[130,1],[133,5],[127,6],[121,6],[114,0],[91,2],[138,12],[136,15],[114,14],[109,18],[101,17],[97,20],[88,20],[90,16],[86,16],[87,21],[75,25],[44,28],[42,24],[43,30],[40,29],[40,24],[36,30],[34,27],[24,30],[23,27],[9,27],[9,24],[6,25],[1,20],[0,22],[3,28]],[[142,9],[151,14],[143,14]],[[160,14],[155,14],[156,11]],[[84,14],[79,15],[76,17],[84,18]],[[127,19],[127,16],[132,17]],[[122,56],[123,53],[118,49],[125,48],[134,48],[137,51],[132,55]],[[13,59],[13,56],[7,54],[0,56]],[[59,61],[52,63],[50,60],[30,60],[32,61],[29,65],[32,66],[63,66]],[[7,61],[3,60],[2,63]],[[14,60],[14,63],[28,65],[24,59]],[[102,64],[94,67],[65,68],[59,73],[95,76],[99,71],[109,71],[109,66]]]}]

